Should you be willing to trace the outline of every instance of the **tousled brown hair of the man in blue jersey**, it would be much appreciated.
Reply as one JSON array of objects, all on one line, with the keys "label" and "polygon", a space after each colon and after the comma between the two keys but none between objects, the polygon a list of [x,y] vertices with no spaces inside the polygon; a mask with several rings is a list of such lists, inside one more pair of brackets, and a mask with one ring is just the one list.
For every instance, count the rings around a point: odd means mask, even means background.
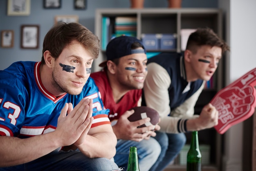
[{"label": "tousled brown hair of the man in blue jersey", "polygon": [[[56,59],[63,49],[74,40],[83,45],[94,59],[99,56],[100,44],[96,35],[79,23],[67,24],[64,22],[54,25],[45,35],[43,53],[49,50],[52,57]],[[41,62],[45,64],[43,56]]]}]

